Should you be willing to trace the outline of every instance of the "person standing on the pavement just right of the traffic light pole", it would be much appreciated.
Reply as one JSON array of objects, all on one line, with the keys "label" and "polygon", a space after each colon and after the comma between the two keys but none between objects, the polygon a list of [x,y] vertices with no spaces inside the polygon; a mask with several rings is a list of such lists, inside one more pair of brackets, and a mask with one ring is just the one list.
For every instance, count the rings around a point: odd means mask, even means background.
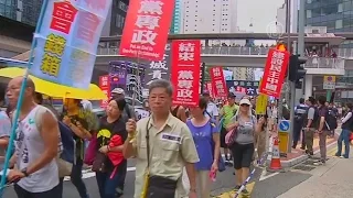
[{"label": "person standing on the pavement just right of the traffic light pole", "polygon": [[306,121],[306,116],[308,113],[308,106],[304,103],[304,99],[299,99],[299,105],[295,107],[295,125],[293,125],[293,145],[292,148],[297,147],[298,141],[300,140],[300,134],[302,133],[301,148],[306,150],[304,134],[302,128]]}]

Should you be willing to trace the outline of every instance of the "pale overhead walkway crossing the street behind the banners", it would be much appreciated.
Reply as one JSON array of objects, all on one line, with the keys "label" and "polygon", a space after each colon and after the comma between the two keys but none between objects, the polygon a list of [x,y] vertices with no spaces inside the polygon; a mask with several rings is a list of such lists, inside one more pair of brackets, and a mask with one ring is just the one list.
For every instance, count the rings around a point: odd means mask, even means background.
[{"label": "pale overhead walkway crossing the street behind the banners", "polygon": [[[225,67],[265,67],[268,50],[270,47],[233,47],[233,46],[210,46],[202,47],[202,62],[207,66],[225,66]],[[113,61],[137,61],[118,55],[117,47],[98,48],[96,66],[107,68],[109,62]],[[308,57],[306,64],[307,73],[310,75],[344,75],[346,67],[353,69],[353,53],[345,48],[338,48],[338,58]],[[342,57],[345,55],[345,57]],[[352,55],[352,59],[346,59]],[[139,61],[142,62],[143,61]],[[346,63],[349,62],[349,63]],[[347,68],[346,68],[347,69]]]}]

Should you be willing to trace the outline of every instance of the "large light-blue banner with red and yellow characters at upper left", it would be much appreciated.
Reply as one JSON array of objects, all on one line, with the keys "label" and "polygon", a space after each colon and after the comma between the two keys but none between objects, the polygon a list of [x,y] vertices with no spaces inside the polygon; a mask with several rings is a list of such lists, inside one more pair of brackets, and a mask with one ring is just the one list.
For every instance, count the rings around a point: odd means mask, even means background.
[{"label": "large light-blue banner with red and yellow characters at upper left", "polygon": [[31,74],[69,87],[87,89],[101,29],[111,0],[52,0],[34,34]]}]

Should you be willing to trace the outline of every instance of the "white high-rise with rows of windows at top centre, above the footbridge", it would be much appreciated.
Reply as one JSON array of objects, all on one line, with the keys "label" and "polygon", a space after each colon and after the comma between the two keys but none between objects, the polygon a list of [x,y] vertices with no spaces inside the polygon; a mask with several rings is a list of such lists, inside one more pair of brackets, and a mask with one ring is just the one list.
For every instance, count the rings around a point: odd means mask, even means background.
[{"label": "white high-rise with rows of windows at top centre, above the footbridge", "polygon": [[182,0],[180,33],[237,32],[237,0]]}]

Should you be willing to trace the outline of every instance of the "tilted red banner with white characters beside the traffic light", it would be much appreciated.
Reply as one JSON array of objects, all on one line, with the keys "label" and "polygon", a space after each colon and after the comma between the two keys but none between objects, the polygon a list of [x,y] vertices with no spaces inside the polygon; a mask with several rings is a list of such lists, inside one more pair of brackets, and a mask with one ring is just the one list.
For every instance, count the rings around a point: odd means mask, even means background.
[{"label": "tilted red banner with white characters beside the traffic light", "polygon": [[268,51],[259,92],[276,98],[280,97],[280,91],[287,73],[288,62],[288,52],[281,52],[275,48],[270,48]]}]

